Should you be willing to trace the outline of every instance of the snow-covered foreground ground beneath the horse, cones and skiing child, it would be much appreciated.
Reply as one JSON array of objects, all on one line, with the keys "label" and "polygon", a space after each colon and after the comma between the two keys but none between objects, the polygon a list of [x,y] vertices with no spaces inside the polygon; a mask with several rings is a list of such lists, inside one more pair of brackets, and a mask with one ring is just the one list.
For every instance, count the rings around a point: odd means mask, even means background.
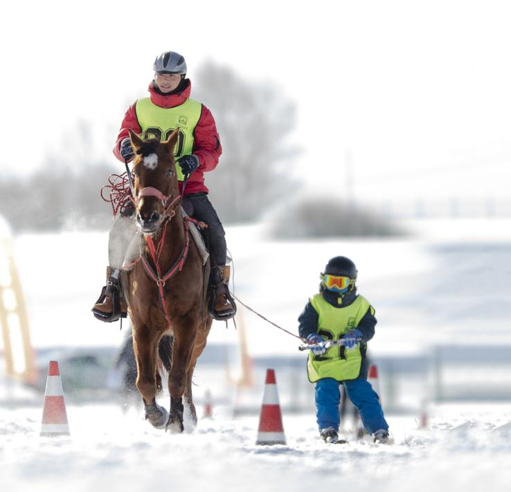
[{"label": "snow-covered foreground ground beneath the horse, cones and skiing child", "polygon": [[428,429],[388,416],[395,444],[325,445],[312,415],[284,415],[287,446],[255,446],[256,416],[200,419],[182,435],[118,407],[68,407],[71,437],[40,411],[0,411],[0,489],[14,491],[508,491],[511,406],[438,407]]}]

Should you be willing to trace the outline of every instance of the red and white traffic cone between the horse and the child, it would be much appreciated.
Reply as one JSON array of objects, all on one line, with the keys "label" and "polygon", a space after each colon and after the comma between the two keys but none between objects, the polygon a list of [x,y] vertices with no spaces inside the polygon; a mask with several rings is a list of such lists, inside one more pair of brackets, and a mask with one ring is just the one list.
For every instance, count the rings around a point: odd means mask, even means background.
[{"label": "red and white traffic cone between the horse and the child", "polygon": [[266,371],[265,393],[262,396],[258,440],[255,443],[267,446],[286,443],[274,369],[267,369]]}]

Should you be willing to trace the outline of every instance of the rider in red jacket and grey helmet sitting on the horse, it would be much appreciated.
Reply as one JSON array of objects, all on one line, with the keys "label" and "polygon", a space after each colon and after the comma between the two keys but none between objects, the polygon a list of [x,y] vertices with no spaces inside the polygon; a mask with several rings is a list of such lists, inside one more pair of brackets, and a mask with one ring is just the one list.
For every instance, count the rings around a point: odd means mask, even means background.
[{"label": "rider in red jacket and grey helmet sitting on the horse", "polygon": [[[186,78],[183,56],[174,51],[165,51],[154,60],[153,70],[150,97],[138,99],[127,109],[120,125],[114,155],[122,162],[133,159],[128,130],[141,134],[144,139],[165,141],[175,128],[179,128],[174,152],[180,193],[184,175],[189,175],[181,204],[188,215],[208,225],[205,234],[211,259],[209,311],[215,319],[229,319],[235,315],[236,307],[228,290],[230,267],[226,265],[225,232],[208,200],[208,188],[204,184],[204,173],[215,169],[222,154],[215,120],[204,104],[190,99],[191,82]],[[133,209],[124,211],[124,215],[129,216],[133,212]],[[116,308],[120,308],[123,316],[127,310],[119,270],[133,233],[132,220],[122,219],[120,217],[118,223],[124,222],[125,225],[116,226],[114,222],[110,232],[107,285],[92,308],[98,319],[107,322],[118,319],[116,310],[119,309]],[[120,248],[119,243],[123,244]]]}]

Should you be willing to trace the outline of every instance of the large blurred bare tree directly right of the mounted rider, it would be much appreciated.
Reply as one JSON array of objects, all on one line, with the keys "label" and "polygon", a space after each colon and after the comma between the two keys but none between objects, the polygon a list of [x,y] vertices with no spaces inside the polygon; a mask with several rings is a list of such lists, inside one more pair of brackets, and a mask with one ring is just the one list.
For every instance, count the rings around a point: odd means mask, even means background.
[{"label": "large blurred bare tree directly right of the mounted rider", "polygon": [[298,149],[288,143],[294,103],[276,87],[251,84],[228,68],[207,62],[192,97],[213,112],[223,154],[206,174],[210,199],[224,222],[254,220],[294,185],[286,166]]}]

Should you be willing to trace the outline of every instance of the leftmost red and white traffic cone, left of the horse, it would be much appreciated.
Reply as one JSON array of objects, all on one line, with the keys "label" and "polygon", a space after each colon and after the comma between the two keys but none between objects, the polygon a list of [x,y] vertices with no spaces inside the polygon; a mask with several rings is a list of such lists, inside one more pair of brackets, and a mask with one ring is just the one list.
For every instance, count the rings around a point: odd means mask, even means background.
[{"label": "leftmost red and white traffic cone, left of the horse", "polygon": [[41,436],[69,436],[66,403],[60,379],[59,364],[51,360],[48,366]]}]

